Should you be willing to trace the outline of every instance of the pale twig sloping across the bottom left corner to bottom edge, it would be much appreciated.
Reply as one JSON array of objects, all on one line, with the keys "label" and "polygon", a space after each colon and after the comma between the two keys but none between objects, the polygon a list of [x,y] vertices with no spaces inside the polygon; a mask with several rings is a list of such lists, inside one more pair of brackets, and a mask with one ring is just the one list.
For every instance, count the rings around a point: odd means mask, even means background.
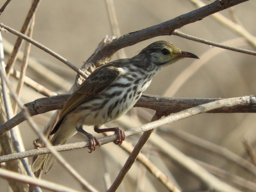
[{"label": "pale twig sloping across the bottom left corner to bottom edge", "polygon": [[30,176],[25,176],[22,174],[18,174],[12,171],[0,169],[0,177],[6,178],[8,180],[15,180],[18,182],[23,182],[25,184],[31,184],[34,186],[39,186],[44,189],[48,189],[50,191],[56,191],[56,192],[78,192],[72,188],[68,188],[53,182],[49,182],[46,180],[40,180],[37,178],[32,178]]}]

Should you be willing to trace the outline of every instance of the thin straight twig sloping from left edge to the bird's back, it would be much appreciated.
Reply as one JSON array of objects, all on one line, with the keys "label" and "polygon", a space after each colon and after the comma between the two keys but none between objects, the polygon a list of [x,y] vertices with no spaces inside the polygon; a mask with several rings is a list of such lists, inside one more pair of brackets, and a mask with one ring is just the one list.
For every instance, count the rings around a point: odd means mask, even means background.
[{"label": "thin straight twig sloping from left edge to the bird's back", "polygon": [[[86,74],[84,74],[84,72],[82,72],[80,69],[78,69],[76,66],[74,66],[74,64],[72,64],[71,62],[69,62],[68,60],[66,60],[64,57],[58,55],[57,53],[53,52],[52,50],[50,50],[49,48],[47,48],[46,46],[43,46],[42,44],[36,42],[35,40],[29,38],[28,36],[0,23],[0,28],[4,28],[6,30],[8,30],[10,33],[17,35],[18,37],[30,42],[31,44],[33,44],[34,46],[44,50],[46,53],[50,54],[51,56],[54,56],[56,59],[60,60],[61,62],[63,62],[64,64],[66,64],[68,67],[70,67],[71,69],[73,69],[75,72],[77,72],[78,74],[80,74],[83,77],[87,77]],[[1,30],[1,29],[0,29]],[[12,56],[12,55],[11,55]],[[7,66],[6,66],[7,67]]]}]

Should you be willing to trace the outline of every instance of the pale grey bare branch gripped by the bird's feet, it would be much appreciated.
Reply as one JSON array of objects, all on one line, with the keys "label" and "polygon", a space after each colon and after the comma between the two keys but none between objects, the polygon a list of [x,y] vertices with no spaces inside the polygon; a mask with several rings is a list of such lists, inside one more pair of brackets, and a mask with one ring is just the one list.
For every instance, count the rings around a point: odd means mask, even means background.
[{"label": "pale grey bare branch gripped by the bird's feet", "polygon": [[[177,112],[177,113],[170,114],[169,116],[163,117],[160,120],[156,120],[154,122],[150,122],[148,124],[144,124],[142,126],[138,126],[136,128],[127,130],[127,131],[125,131],[125,135],[128,137],[128,136],[132,136],[135,134],[139,134],[144,131],[147,131],[147,130],[150,130],[153,128],[157,128],[158,126],[163,126],[165,124],[169,124],[169,123],[177,121],[177,120],[181,120],[181,119],[184,119],[184,118],[196,115],[196,114],[200,114],[200,113],[205,113],[205,112],[208,112],[211,110],[216,110],[218,108],[225,109],[225,108],[232,108],[234,106],[240,106],[240,107],[248,106],[248,105],[250,105],[251,99],[252,99],[252,96],[244,96],[244,97],[238,97],[238,98],[222,99],[222,100],[217,100],[217,101],[210,102],[207,104],[202,104],[202,105],[199,105],[199,106],[196,106],[193,108],[189,108],[189,109]],[[112,142],[116,139],[117,139],[117,136],[115,134],[106,136],[104,138],[98,138],[101,145]],[[58,152],[61,152],[61,151],[85,148],[88,146],[90,146],[90,143],[88,141],[86,141],[86,142],[78,142],[78,143],[74,143],[74,144],[64,144],[61,146],[53,146],[53,148],[55,150],[57,150]],[[17,153],[17,154],[10,154],[8,156],[0,156],[0,163],[10,161],[10,160],[19,159],[19,158],[47,154],[47,153],[49,153],[49,150],[47,148],[38,148],[38,149],[29,150],[26,152]]]}]

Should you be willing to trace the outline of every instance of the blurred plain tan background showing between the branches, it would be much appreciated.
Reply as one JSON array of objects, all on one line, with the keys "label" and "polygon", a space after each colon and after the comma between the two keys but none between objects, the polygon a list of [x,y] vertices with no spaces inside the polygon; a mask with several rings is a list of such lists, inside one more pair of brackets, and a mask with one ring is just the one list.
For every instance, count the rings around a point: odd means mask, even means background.
[{"label": "blurred plain tan background showing between the branches", "polygon": [[[0,6],[4,2],[5,0],[0,0]],[[211,1],[206,0],[202,2],[206,4],[211,3]],[[0,22],[19,31],[30,6],[30,1],[12,0],[0,16]],[[197,8],[190,0],[114,0],[114,6],[121,35],[160,24]],[[242,26],[250,34],[255,35],[255,10],[256,1],[248,1],[233,7],[232,14],[230,14],[230,10],[224,10],[220,13],[230,20],[232,20],[231,16],[235,15]],[[219,43],[225,42],[224,44],[255,50],[255,47],[246,43],[240,35],[223,26],[211,16],[184,26],[179,30],[206,40]],[[104,0],[44,0],[40,2],[36,12],[32,38],[80,68],[106,35],[112,36],[113,34]],[[2,32],[2,36],[10,44],[14,44],[16,41],[16,36],[11,33]],[[127,57],[130,58],[138,54],[148,44],[158,40],[172,42],[181,50],[196,54],[201,60],[184,59],[169,66],[154,78],[150,87],[146,90],[146,94],[182,98],[232,98],[256,94],[255,56],[221,50],[220,48],[214,48],[178,36],[156,37],[134,46],[126,47],[124,51]],[[41,74],[42,71],[37,72],[34,69],[36,67],[34,66],[33,68],[30,64],[28,66],[27,76],[59,94],[66,93],[69,90],[76,76],[73,70],[35,46],[32,46],[30,56],[46,69],[60,76],[63,79],[63,83],[62,86],[56,86],[51,82],[54,81],[54,76],[52,76],[52,80],[48,80]],[[8,57],[9,53],[6,51],[6,62]],[[118,59],[117,56],[113,58],[113,60],[116,59]],[[170,89],[172,82],[182,71],[186,70],[192,64],[200,66],[200,68],[192,71],[191,77],[176,92],[173,92]],[[14,68],[20,70],[19,61],[16,62]],[[16,86],[17,80],[14,78],[10,78],[10,80]],[[24,86],[21,101],[27,103],[42,97],[44,96]],[[53,113],[40,114],[34,116],[33,119],[41,130],[43,130]],[[120,122],[124,129],[133,128],[139,124],[149,122],[153,114],[153,110],[136,108],[132,112],[128,112],[127,116],[115,122],[115,125]],[[132,118],[134,122],[127,125],[127,118]],[[255,146],[255,114],[200,114],[174,122],[168,126],[163,126],[156,131],[164,140],[167,140],[192,158],[231,171],[248,180],[255,178],[252,174],[238,169],[235,164],[228,162],[224,158],[194,147],[173,136],[171,133],[168,134],[168,130],[182,130],[228,148],[244,158],[248,158],[244,145],[242,144],[242,139],[245,136]],[[20,131],[26,150],[33,149],[33,140],[38,138],[38,136],[26,122],[20,124]],[[88,128],[88,131],[94,134],[92,128]],[[96,133],[94,136],[102,137],[102,135]],[[132,136],[127,138],[127,141],[135,145],[139,137],[140,135]],[[68,143],[79,141],[84,141],[84,136],[76,134]],[[110,174],[110,180],[113,182],[126,161],[128,154],[112,143],[100,148],[97,147],[92,154],[88,154],[87,151],[88,149],[79,149],[62,152],[61,154],[90,184],[100,191],[106,191],[104,174]],[[171,175],[173,175],[178,185],[184,191],[193,191],[194,189],[200,188],[201,183],[199,180],[170,161],[154,146],[147,144],[142,152],[162,172],[166,173],[170,179],[172,178]],[[30,158],[29,160],[31,162],[32,159]],[[118,192],[167,191],[150,173],[146,172],[144,175],[143,172],[140,164],[136,163],[120,188],[118,188]],[[54,164],[50,173],[43,175],[42,178],[58,184],[64,184],[76,190],[82,190],[78,182],[57,162]],[[0,179],[0,186],[2,191],[8,190],[8,184],[4,179]]]}]

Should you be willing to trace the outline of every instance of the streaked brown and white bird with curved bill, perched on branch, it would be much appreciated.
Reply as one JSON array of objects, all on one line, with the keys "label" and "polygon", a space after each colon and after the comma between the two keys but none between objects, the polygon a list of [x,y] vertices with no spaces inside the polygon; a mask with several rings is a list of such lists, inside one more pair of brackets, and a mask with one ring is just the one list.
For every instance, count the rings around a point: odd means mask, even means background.
[{"label": "streaked brown and white bird with curved bill, perched on branch", "polygon": [[[97,68],[68,98],[60,118],[50,135],[52,145],[64,144],[77,132],[87,136],[90,141],[89,152],[100,146],[84,126],[94,126],[97,133],[114,131],[117,134],[115,144],[122,144],[125,133],[119,127],[101,128],[124,115],[138,101],[148,88],[153,77],[164,67],[182,58],[196,58],[190,52],[184,52],[168,41],[157,41],[142,49],[136,56],[118,59]],[[52,154],[38,156],[32,165],[32,171],[40,168],[47,174],[56,158]]]}]

